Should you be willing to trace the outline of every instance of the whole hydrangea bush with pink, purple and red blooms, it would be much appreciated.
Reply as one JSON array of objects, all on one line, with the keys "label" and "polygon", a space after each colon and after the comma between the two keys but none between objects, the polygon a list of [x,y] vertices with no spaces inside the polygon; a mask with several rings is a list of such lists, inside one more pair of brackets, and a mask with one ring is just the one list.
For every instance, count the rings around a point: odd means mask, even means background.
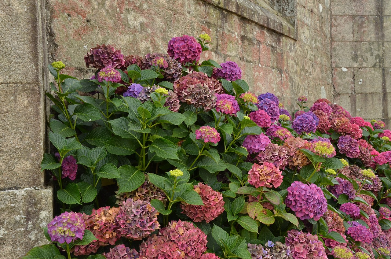
[{"label": "whole hydrangea bush with pink, purple and red blooms", "polygon": [[54,77],[56,217],[45,259],[379,259],[391,250],[391,131],[327,99],[255,95],[210,37],[166,53],[91,48]]}]

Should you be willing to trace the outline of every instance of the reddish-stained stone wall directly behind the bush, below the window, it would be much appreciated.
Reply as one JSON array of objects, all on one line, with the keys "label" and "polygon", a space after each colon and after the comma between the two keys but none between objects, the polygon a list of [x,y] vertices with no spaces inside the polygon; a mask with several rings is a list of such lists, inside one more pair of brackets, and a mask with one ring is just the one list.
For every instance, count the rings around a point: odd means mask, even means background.
[{"label": "reddish-stained stone wall directly behind the bush, below the window", "polygon": [[296,41],[202,0],[50,0],[50,58],[84,77],[93,70],[83,56],[96,43],[145,55],[166,52],[173,36],[207,32],[212,48],[203,58],[237,62],[251,90],[275,93],[292,110],[298,95],[320,98],[322,86],[333,99],[329,5],[298,0]]}]

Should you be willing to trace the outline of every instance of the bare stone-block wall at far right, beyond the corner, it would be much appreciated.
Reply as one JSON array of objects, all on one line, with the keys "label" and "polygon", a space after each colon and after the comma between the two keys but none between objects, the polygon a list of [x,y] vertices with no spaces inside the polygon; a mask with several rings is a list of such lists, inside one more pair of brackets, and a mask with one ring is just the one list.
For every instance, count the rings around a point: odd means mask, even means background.
[{"label": "bare stone-block wall at far right, beyond the corner", "polygon": [[336,101],[389,126],[391,2],[332,0],[332,67]]}]

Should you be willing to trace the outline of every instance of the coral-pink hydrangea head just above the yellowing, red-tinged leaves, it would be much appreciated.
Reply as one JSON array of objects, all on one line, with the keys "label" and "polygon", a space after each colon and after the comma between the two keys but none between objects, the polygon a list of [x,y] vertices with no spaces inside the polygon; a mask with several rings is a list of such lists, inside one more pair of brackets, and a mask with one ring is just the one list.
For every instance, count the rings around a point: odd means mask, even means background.
[{"label": "coral-pink hydrangea head just above the yellowing, red-tinged leaves", "polygon": [[277,188],[281,185],[282,172],[272,163],[264,162],[262,165],[253,164],[248,172],[248,182],[255,187]]}]

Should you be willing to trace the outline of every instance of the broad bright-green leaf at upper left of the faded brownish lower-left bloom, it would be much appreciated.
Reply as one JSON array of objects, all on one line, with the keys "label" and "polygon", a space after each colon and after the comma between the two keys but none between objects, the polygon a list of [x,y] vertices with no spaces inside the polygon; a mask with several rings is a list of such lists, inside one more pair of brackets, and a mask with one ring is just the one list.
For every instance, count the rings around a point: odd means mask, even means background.
[{"label": "broad bright-green leaf at upper left of the faded brownish lower-left bloom", "polygon": [[117,178],[118,192],[131,192],[145,182],[145,175],[136,167],[122,165],[118,168],[120,177]]}]

